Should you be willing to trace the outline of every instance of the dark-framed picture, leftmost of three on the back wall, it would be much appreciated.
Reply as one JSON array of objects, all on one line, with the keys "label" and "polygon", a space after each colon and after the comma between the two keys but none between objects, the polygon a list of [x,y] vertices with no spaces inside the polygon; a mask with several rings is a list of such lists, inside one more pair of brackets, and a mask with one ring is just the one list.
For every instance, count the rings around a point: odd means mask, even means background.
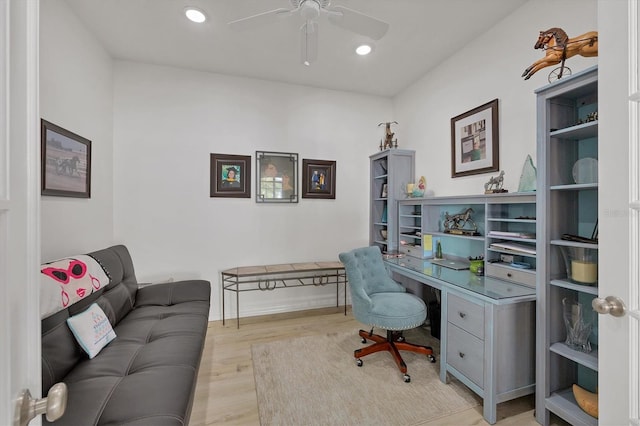
[{"label": "dark-framed picture, leftmost of three on the back wall", "polygon": [[211,154],[209,197],[251,198],[251,156]]}]

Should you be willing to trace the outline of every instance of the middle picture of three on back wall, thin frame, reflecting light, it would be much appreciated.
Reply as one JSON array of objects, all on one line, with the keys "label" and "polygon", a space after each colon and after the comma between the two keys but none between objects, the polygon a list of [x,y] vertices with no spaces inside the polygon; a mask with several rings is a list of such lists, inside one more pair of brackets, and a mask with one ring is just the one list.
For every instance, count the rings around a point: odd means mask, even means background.
[{"label": "middle picture of three on back wall, thin frame, reflecting light", "polygon": [[298,202],[298,154],[256,151],[256,202]]}]

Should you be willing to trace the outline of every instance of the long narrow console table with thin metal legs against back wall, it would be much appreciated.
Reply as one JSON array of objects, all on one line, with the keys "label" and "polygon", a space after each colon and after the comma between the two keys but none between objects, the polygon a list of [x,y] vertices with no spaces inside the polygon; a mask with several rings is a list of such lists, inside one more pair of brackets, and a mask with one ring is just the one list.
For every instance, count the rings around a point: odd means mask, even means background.
[{"label": "long narrow console table with thin metal legs against back wall", "polygon": [[340,262],[285,263],[241,266],[222,271],[222,324],[225,324],[224,292],[236,294],[236,324],[240,328],[240,293],[277,288],[335,284],[336,307],[340,306],[340,284],[344,284],[344,314],[347,315],[347,275]]}]

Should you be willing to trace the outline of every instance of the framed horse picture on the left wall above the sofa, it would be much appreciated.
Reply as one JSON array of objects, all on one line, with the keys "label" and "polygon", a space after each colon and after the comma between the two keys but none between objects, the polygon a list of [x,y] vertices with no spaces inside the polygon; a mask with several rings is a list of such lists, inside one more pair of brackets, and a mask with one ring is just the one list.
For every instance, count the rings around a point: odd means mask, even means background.
[{"label": "framed horse picture on the left wall above the sofa", "polygon": [[91,141],[40,121],[42,195],[91,198]]}]

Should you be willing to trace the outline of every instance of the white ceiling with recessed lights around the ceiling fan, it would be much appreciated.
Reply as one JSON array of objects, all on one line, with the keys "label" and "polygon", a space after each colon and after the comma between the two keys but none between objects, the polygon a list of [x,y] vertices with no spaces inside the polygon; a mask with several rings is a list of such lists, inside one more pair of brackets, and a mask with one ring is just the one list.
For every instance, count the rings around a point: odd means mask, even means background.
[{"label": "white ceiling with recessed lights around the ceiling fan", "polygon": [[[323,15],[318,58],[307,67],[296,17],[244,31],[227,26],[290,8],[289,0],[66,0],[116,59],[382,96],[399,93],[526,1],[334,0],[388,22],[389,31],[360,57],[353,49],[366,39]],[[204,10],[208,21],[191,23],[185,6]]]}]

